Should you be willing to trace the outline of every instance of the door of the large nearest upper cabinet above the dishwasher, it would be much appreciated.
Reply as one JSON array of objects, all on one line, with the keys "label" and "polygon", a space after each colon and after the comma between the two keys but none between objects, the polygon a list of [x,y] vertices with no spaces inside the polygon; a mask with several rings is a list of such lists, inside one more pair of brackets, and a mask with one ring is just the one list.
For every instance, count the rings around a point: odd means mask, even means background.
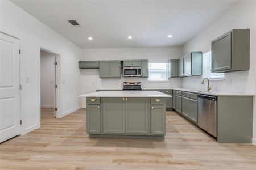
[{"label": "door of the large nearest upper cabinet above the dishwasher", "polygon": [[212,71],[231,69],[231,32],[212,41]]}]

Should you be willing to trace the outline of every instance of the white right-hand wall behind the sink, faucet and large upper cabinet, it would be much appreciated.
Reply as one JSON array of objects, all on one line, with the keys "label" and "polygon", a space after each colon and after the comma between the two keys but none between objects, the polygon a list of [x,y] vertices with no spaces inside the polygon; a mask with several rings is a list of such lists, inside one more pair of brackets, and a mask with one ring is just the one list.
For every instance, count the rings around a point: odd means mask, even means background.
[{"label": "white right-hand wall behind the sink, faucet and large upper cabinet", "polygon": [[[216,37],[233,28],[250,28],[250,70],[238,71],[234,73],[225,73],[225,79],[222,81],[211,81],[210,84],[215,91],[222,92],[255,92],[255,61],[256,61],[256,1],[241,1],[233,6],[216,22],[205,28],[199,35],[183,46],[183,54],[193,50],[210,50],[210,42]],[[206,89],[201,85],[201,76],[183,78],[183,88]],[[254,103],[254,108],[256,103]],[[256,113],[254,109],[254,140],[256,138]],[[254,141],[256,144],[256,141]]]}]

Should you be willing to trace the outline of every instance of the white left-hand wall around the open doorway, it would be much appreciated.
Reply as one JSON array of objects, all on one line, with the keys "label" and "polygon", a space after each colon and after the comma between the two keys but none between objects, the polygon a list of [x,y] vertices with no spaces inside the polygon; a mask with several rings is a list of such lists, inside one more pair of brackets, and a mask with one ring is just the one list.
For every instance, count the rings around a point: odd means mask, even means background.
[{"label": "white left-hand wall around the open doorway", "polygon": [[20,39],[22,134],[40,127],[40,48],[60,55],[61,116],[79,108],[81,49],[10,1],[0,1],[0,24]]}]

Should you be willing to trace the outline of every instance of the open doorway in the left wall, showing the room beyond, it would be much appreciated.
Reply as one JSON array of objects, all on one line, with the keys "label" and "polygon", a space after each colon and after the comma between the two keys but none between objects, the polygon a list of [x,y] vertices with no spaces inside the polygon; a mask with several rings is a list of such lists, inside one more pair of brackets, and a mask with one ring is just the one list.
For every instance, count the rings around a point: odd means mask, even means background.
[{"label": "open doorway in the left wall, showing the room beyond", "polygon": [[46,49],[40,50],[41,122],[45,118],[59,117],[58,60],[58,54]]}]

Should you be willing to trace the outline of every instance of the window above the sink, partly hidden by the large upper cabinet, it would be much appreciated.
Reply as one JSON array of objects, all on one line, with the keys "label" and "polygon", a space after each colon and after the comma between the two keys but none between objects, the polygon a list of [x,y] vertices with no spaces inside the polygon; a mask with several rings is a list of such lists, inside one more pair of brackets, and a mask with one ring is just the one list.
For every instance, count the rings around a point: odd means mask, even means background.
[{"label": "window above the sink, partly hidden by the large upper cabinet", "polygon": [[206,52],[203,54],[203,78],[208,79],[222,79],[224,78],[224,73],[212,73],[212,52]]}]

